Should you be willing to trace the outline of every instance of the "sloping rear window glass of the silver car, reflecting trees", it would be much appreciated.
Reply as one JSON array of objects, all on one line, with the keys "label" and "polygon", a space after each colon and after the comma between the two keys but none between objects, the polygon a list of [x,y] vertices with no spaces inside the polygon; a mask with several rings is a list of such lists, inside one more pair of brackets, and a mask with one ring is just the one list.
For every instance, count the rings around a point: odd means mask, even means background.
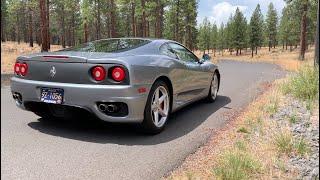
[{"label": "sloping rear window glass of the silver car, reflecting trees", "polygon": [[150,41],[145,39],[105,39],[99,41],[80,44],[61,51],[80,51],[80,52],[124,52],[148,44]]}]

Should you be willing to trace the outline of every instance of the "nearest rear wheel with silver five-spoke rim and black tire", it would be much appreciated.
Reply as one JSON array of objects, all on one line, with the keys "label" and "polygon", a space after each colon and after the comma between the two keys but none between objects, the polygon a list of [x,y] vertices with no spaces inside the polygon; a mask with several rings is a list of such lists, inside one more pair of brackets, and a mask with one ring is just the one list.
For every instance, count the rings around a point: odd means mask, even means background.
[{"label": "nearest rear wheel with silver five-spoke rim and black tire", "polygon": [[164,129],[170,116],[170,100],[171,94],[167,84],[156,81],[151,87],[144,110],[142,128],[145,133],[158,134]]}]

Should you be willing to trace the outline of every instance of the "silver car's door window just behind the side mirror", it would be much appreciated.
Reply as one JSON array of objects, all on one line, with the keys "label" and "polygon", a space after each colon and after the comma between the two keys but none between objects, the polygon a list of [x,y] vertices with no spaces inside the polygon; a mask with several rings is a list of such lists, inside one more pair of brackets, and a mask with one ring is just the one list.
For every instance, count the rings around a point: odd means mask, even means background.
[{"label": "silver car's door window just behind the side mirror", "polygon": [[170,43],[169,46],[173,49],[180,60],[193,63],[199,61],[198,58],[185,47],[175,43]]}]

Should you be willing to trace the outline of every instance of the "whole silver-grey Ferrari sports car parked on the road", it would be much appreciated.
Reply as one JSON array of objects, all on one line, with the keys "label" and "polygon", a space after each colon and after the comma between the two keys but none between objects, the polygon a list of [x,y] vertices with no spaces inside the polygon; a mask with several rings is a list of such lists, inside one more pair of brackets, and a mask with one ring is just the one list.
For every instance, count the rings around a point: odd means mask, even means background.
[{"label": "whole silver-grey Ferrari sports car parked on the road", "polygon": [[209,59],[171,40],[103,39],[18,57],[11,90],[18,107],[41,117],[85,111],[159,133],[171,112],[215,101],[220,73]]}]

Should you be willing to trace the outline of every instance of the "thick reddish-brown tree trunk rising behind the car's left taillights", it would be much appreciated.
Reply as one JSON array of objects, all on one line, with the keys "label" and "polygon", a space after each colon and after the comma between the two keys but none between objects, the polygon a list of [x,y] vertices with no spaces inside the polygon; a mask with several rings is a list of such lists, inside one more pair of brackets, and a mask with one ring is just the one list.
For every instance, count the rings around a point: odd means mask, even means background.
[{"label": "thick reddish-brown tree trunk rising behind the car's left taillights", "polygon": [[47,52],[48,47],[48,26],[47,26],[47,11],[46,0],[40,0],[40,19],[41,19],[41,52]]}]

